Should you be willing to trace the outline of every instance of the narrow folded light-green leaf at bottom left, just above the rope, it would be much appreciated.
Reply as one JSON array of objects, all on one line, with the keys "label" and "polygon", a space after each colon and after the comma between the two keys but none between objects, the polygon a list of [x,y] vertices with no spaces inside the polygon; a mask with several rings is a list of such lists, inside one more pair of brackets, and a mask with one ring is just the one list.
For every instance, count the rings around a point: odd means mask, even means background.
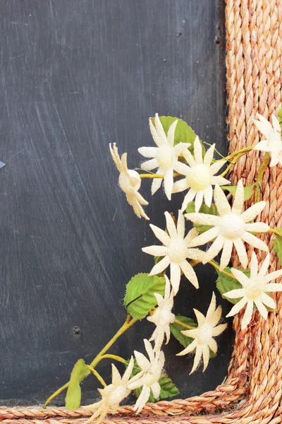
[{"label": "narrow folded light-green leaf at bottom left, just above the rope", "polygon": [[66,392],[66,409],[68,411],[78,409],[81,401],[80,383],[90,375],[90,370],[87,368],[85,361],[79,359],[71,372],[71,379]]}]

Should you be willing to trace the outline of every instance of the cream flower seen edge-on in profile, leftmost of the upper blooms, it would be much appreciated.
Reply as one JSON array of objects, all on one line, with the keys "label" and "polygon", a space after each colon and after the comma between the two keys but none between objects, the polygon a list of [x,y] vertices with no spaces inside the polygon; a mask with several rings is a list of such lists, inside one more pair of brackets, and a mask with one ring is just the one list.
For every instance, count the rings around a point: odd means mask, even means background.
[{"label": "cream flower seen edge-on in profile, leftmost of the upper blooms", "polygon": [[147,205],[148,202],[138,193],[138,190],[141,186],[141,178],[138,172],[134,170],[128,170],[127,165],[127,153],[123,153],[121,158],[118,155],[118,148],[116,147],[116,143],[114,143],[113,148],[110,146],[111,157],[120,172],[120,176],[118,178],[118,183],[125,192],[126,199],[130,206],[133,206],[133,211],[137,215],[138,218],[149,219],[146,215],[144,209],[141,205]]}]

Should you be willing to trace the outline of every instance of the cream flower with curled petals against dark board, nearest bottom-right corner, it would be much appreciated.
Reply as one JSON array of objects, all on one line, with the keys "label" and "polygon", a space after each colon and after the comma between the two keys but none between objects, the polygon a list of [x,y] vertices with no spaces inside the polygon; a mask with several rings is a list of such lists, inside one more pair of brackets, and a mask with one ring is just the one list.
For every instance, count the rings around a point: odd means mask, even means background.
[{"label": "cream flower with curled petals against dark board, nearest bottom-right corner", "polygon": [[177,355],[186,355],[186,353],[190,353],[194,351],[196,348],[195,359],[193,363],[192,372],[194,372],[197,366],[200,363],[201,357],[204,360],[204,370],[206,370],[207,365],[209,363],[209,349],[216,353],[217,344],[213,337],[219,336],[226,329],[227,324],[216,324],[221,319],[221,306],[216,309],[216,297],[214,293],[212,293],[212,301],[209,305],[209,309],[207,311],[207,317],[199,312],[198,310],[194,310],[198,326],[196,329],[181,331],[185,336],[195,338],[192,343],[184,349],[184,351],[178,353]]}]

